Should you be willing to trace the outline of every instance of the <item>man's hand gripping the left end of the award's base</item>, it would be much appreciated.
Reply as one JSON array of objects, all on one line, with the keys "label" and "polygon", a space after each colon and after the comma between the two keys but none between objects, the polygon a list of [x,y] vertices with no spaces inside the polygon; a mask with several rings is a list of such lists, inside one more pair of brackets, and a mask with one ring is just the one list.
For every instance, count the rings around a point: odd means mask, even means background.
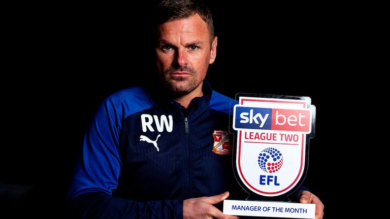
[{"label": "man's hand gripping the left end of the award's base", "polygon": [[228,197],[229,192],[225,192],[215,196],[186,199],[183,202],[183,218],[237,219],[239,217],[223,214],[218,208],[213,206],[213,204],[217,204]]}]

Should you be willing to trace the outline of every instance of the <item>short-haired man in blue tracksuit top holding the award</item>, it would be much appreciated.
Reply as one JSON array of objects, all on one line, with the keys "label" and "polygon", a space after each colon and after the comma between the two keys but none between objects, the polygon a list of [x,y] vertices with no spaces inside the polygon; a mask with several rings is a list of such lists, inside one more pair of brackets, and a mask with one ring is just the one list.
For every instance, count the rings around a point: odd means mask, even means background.
[{"label": "short-haired man in blue tracksuit top holding the award", "polygon": [[[160,86],[157,92],[135,86],[104,100],[75,168],[73,212],[88,218],[238,218],[215,206],[242,189],[231,149],[213,150],[213,132],[229,129],[233,99],[204,81],[217,48],[211,13],[195,0],[161,1],[157,9]],[[315,203],[316,218],[322,218],[315,195],[300,191],[298,198]]]}]

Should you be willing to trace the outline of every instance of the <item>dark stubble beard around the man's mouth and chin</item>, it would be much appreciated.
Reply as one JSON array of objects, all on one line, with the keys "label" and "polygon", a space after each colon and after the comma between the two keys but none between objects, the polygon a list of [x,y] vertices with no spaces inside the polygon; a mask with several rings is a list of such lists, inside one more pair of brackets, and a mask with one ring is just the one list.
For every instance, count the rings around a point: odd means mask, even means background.
[{"label": "dark stubble beard around the man's mouth and chin", "polygon": [[[186,77],[172,76],[175,71],[185,71],[191,74]],[[175,95],[186,95],[191,93],[195,88],[199,86],[197,84],[197,71],[193,67],[184,65],[180,68],[169,67],[164,71],[164,76],[161,78],[161,82],[164,87]]]}]

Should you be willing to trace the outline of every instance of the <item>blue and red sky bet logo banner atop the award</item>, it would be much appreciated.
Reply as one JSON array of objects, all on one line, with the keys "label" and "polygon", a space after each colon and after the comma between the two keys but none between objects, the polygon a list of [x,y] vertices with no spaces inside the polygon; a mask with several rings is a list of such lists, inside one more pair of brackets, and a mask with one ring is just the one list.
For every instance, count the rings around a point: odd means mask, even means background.
[{"label": "blue and red sky bet logo banner atop the award", "polygon": [[234,129],[311,132],[310,109],[259,108],[235,105]]}]

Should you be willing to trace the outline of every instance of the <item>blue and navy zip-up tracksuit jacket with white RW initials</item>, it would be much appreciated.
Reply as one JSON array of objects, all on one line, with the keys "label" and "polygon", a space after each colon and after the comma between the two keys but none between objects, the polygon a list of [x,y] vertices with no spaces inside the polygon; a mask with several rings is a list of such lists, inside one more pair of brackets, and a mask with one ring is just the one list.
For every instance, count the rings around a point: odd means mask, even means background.
[{"label": "blue and navy zip-up tracksuit jacket with white RW initials", "polygon": [[143,87],[106,98],[72,180],[78,216],[182,218],[184,199],[242,192],[233,174],[233,139],[226,135],[235,100],[207,82],[203,92],[187,108]]}]

